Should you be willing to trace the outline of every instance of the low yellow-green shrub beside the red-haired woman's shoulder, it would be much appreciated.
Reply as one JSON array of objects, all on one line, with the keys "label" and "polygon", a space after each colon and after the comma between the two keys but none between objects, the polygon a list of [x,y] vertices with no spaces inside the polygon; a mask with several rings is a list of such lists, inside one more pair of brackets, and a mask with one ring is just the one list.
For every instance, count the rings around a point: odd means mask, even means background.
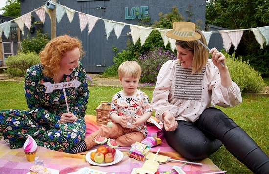
[{"label": "low yellow-green shrub beside the red-haired woman's shoulder", "polygon": [[6,71],[12,76],[24,77],[27,69],[39,62],[39,56],[35,53],[19,53],[15,56],[8,56],[6,59]]}]

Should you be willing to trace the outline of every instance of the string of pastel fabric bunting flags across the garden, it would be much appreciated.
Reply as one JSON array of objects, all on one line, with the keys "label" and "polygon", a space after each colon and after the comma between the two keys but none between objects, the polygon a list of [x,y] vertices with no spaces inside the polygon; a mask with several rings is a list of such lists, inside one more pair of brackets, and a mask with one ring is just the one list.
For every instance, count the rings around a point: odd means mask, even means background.
[{"label": "string of pastel fabric bunting flags across the garden", "polygon": [[[57,22],[60,23],[63,16],[66,14],[69,22],[71,23],[73,21],[74,15],[77,12],[79,16],[79,25],[81,32],[86,28],[86,25],[88,24],[88,35],[94,28],[96,22],[101,19],[105,23],[105,30],[107,34],[107,40],[110,36],[110,33],[112,30],[115,31],[115,34],[117,36],[117,39],[120,37],[121,32],[123,28],[128,25],[130,26],[131,30],[131,37],[134,45],[140,38],[141,40],[141,46],[145,43],[146,39],[148,38],[149,34],[153,30],[157,30],[160,32],[161,37],[164,42],[164,46],[170,43],[171,49],[175,50],[176,45],[175,42],[176,40],[168,38],[165,34],[167,31],[171,31],[171,29],[162,29],[162,28],[152,28],[152,27],[143,27],[143,26],[138,26],[138,25],[132,25],[132,24],[127,24],[123,22],[116,22],[112,20],[107,20],[107,19],[102,19],[98,18],[89,14],[85,14],[79,11],[75,11],[71,8],[68,8],[66,6],[60,5],[58,3],[56,4],[56,19]],[[31,27],[31,13],[36,12],[37,16],[39,17],[41,22],[45,22],[45,13],[47,13],[51,19],[51,10],[45,7],[45,5],[39,7],[38,9],[35,9],[27,14],[24,14],[16,19],[10,20],[8,22],[4,22],[0,24],[0,36],[2,36],[2,33],[4,32],[4,35],[6,38],[9,37],[10,34],[10,26],[11,22],[14,21],[15,23],[18,24],[20,30],[22,31],[22,34],[24,35],[24,26],[26,28],[30,29]],[[261,45],[261,49],[263,49],[263,45],[266,42],[266,45],[269,44],[269,26],[264,26],[264,27],[257,27],[257,28],[250,28],[250,29],[236,29],[236,30],[219,30],[219,31],[202,31],[206,38],[207,44],[209,43],[210,37],[212,33],[220,33],[221,37],[223,39],[224,43],[224,48],[226,51],[229,51],[231,44],[234,45],[235,50],[240,43],[241,37],[243,35],[243,31],[251,30],[257,40],[257,42]]]}]

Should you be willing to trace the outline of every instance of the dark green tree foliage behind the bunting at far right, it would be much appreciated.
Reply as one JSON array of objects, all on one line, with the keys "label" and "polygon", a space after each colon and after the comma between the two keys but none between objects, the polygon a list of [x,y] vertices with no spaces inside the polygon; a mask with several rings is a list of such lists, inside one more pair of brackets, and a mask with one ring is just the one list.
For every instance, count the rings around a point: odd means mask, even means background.
[{"label": "dark green tree foliage behind the bunting at far right", "polygon": [[[269,1],[267,0],[207,0],[206,23],[227,29],[250,29],[269,25]],[[241,41],[235,51],[236,57],[242,56],[243,61],[249,61],[256,70],[269,76],[269,46],[260,45],[252,31],[244,31]],[[259,57],[262,65],[254,65]],[[264,65],[265,64],[265,65]],[[259,66],[265,67],[260,68]]]}]

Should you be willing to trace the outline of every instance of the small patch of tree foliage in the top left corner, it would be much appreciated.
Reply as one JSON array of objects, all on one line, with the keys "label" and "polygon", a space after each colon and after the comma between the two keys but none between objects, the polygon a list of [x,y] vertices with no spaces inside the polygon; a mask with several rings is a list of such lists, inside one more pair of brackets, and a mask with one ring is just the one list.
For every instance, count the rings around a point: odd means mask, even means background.
[{"label": "small patch of tree foliage in the top left corner", "polygon": [[21,16],[21,7],[19,0],[7,0],[5,4],[6,5],[3,8],[0,8],[0,10],[5,11],[3,15],[11,16],[14,18],[18,18],[19,16]]}]

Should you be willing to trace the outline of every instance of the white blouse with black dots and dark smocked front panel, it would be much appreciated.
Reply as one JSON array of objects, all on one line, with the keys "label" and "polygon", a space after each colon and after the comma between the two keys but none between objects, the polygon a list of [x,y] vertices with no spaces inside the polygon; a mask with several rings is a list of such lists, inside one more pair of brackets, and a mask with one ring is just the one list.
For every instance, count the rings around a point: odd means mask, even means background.
[{"label": "white blouse with black dots and dark smocked front panel", "polygon": [[221,85],[219,70],[211,59],[201,73],[191,72],[191,68],[183,68],[177,60],[163,64],[151,101],[158,120],[162,120],[164,112],[170,112],[176,120],[194,122],[208,107],[233,107],[242,102],[236,83],[230,87]]}]

